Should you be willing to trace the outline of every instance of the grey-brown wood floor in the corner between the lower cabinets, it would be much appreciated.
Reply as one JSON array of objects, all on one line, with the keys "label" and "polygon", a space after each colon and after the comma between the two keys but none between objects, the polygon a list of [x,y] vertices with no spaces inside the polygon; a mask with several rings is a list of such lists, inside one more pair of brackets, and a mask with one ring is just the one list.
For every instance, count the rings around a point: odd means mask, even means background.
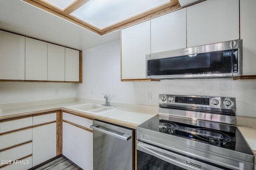
[{"label": "grey-brown wood floor in the corner between the lower cabinets", "polygon": [[56,156],[28,170],[83,170],[64,155]]}]

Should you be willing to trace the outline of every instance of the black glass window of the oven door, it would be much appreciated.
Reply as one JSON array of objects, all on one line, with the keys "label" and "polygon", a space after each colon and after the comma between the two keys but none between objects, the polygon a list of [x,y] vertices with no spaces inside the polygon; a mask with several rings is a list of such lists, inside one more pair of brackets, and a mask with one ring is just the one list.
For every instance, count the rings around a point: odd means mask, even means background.
[{"label": "black glass window of the oven door", "polygon": [[137,170],[186,170],[174,164],[137,150]]}]

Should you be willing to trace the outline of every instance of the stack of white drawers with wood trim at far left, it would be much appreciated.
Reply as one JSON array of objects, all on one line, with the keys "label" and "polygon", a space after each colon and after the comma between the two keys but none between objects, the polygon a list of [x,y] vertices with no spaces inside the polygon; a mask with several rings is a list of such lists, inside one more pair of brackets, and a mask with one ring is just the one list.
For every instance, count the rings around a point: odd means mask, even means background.
[{"label": "stack of white drawers with wood trim at far left", "polygon": [[32,117],[0,121],[0,170],[32,167],[32,129],[21,130],[31,125]]}]

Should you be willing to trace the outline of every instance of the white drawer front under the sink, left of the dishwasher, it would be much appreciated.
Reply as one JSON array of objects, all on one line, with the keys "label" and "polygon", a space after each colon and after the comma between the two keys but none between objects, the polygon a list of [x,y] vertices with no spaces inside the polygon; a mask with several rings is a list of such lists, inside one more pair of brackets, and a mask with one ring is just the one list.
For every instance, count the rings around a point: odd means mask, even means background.
[{"label": "white drawer front under the sink, left of the dishwasher", "polygon": [[90,128],[90,125],[92,125],[92,120],[91,119],[86,119],[84,117],[72,115],[69,113],[64,113],[63,112],[63,120],[70,121],[72,123],[76,123],[77,125],[86,127],[88,129]]}]

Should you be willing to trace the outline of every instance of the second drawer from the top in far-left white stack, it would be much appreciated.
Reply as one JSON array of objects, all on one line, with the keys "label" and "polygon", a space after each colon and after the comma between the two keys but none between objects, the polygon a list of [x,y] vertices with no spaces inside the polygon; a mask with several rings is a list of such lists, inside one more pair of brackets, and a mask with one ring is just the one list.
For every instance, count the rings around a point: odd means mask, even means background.
[{"label": "second drawer from the top in far-left white stack", "polygon": [[32,140],[32,129],[0,136],[0,150],[12,145]]}]

